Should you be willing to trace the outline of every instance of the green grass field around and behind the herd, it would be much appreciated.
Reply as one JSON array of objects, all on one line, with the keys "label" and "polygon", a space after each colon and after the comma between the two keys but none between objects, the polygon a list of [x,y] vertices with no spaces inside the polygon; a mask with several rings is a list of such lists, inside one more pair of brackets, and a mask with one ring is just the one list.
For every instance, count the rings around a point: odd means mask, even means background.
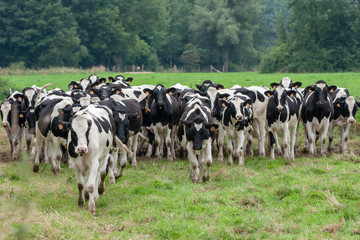
[{"label": "green grass field around and behind the herd", "polygon": [[[97,73],[99,77],[115,73]],[[55,82],[66,89],[89,74],[5,76],[15,88]],[[284,76],[304,86],[323,79],[360,93],[360,73],[337,74],[124,74],[133,85],[176,82],[195,86],[210,79],[225,87],[269,85]],[[358,98],[357,98],[358,99]],[[357,120],[359,122],[359,116]],[[359,239],[359,125],[352,128],[348,154],[308,158],[300,149],[291,162],[245,159],[245,166],[216,161],[207,183],[192,184],[186,159],[139,158],[116,184],[106,180],[96,214],[77,207],[73,171],[49,165],[32,173],[27,156],[12,161],[0,128],[0,238],[2,239]],[[257,146],[257,143],[254,143]]]}]

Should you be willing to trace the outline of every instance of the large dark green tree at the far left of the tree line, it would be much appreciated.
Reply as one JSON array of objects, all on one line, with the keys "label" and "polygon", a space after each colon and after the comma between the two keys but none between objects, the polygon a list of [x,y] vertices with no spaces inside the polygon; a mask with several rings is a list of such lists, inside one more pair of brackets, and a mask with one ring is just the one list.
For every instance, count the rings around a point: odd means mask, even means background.
[{"label": "large dark green tree at the far left of the tree line", "polygon": [[87,54],[70,10],[59,0],[0,1],[2,66],[77,66]]}]

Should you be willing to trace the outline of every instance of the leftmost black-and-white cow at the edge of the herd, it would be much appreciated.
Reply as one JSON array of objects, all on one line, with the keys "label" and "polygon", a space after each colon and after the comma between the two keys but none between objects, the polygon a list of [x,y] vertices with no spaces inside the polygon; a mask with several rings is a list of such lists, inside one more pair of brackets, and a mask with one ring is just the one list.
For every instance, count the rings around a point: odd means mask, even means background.
[{"label": "leftmost black-and-white cow at the edge of the herd", "polygon": [[[0,106],[0,115],[2,119],[1,125],[4,127],[8,135],[11,146],[11,154],[14,160],[17,159],[18,153],[22,152],[22,135],[24,122],[19,119],[20,105],[24,99],[22,93],[15,91],[7,97]],[[20,144],[19,144],[20,143]],[[19,144],[19,150],[16,148]]]}]

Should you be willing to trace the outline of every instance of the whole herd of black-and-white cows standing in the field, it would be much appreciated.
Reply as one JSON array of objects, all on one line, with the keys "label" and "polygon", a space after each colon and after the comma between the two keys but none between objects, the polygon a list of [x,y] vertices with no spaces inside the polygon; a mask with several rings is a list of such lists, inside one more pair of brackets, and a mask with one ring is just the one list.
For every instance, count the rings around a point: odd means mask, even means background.
[{"label": "whole herd of black-and-white cows standing in the field", "polygon": [[34,172],[39,171],[40,158],[52,164],[54,173],[60,173],[60,162],[66,159],[75,171],[78,205],[84,206],[85,197],[91,213],[105,190],[107,174],[115,183],[128,159],[136,166],[136,156],[145,146],[147,157],[161,159],[166,154],[173,161],[187,155],[190,178],[197,183],[210,178],[215,147],[218,161],[226,153],[229,165],[236,160],[242,166],[244,155],[253,155],[253,137],[260,156],[265,156],[268,138],[271,159],[275,147],[278,154],[294,159],[300,122],[310,155],[315,154],[318,138],[322,155],[333,150],[336,126],[340,152],[345,152],[360,104],[347,89],[322,80],[301,88],[302,83],[285,77],[271,88],[230,89],[210,80],[196,84],[197,89],[181,84],[131,86],[133,79],[121,75],[108,80],[93,74],[71,82],[66,92],[46,91],[50,84],[26,87],[11,93],[0,111],[12,157],[21,153],[25,135]]}]

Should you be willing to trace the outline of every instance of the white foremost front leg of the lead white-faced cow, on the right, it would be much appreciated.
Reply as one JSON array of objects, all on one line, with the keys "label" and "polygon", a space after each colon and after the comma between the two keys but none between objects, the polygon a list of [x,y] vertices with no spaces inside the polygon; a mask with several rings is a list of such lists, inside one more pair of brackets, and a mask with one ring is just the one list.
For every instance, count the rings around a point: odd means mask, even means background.
[{"label": "white foremost front leg of the lead white-faced cow, on the right", "polygon": [[[90,156],[89,156],[90,157]],[[92,165],[89,169],[89,176],[88,176],[88,180],[86,183],[86,190],[89,193],[89,212],[92,214],[95,214],[96,209],[95,209],[95,198],[97,195],[97,189],[96,189],[96,180],[97,180],[97,175],[98,175],[98,171],[99,171],[99,158],[93,158],[95,160],[93,160]]]}]

